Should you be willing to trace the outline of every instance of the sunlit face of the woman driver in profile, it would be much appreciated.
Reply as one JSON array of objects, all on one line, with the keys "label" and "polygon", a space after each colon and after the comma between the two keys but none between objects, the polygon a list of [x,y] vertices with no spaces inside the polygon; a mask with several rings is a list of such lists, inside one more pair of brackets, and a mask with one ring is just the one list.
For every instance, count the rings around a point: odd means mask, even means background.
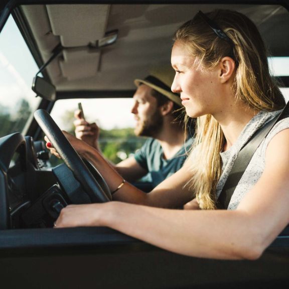
[{"label": "sunlit face of the woman driver in profile", "polygon": [[217,68],[198,67],[195,57],[178,41],[173,46],[171,62],[176,71],[172,91],[181,94],[182,104],[190,117],[214,115],[221,109]]}]

